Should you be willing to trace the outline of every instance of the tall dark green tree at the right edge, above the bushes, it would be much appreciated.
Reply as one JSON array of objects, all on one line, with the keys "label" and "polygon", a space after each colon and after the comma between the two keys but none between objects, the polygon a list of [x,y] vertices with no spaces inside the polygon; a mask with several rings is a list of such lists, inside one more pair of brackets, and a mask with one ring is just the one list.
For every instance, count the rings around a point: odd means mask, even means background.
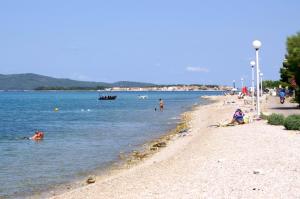
[{"label": "tall dark green tree at the right edge, above the bushes", "polygon": [[296,101],[300,103],[300,32],[287,38],[286,50],[280,78],[295,89]]}]

